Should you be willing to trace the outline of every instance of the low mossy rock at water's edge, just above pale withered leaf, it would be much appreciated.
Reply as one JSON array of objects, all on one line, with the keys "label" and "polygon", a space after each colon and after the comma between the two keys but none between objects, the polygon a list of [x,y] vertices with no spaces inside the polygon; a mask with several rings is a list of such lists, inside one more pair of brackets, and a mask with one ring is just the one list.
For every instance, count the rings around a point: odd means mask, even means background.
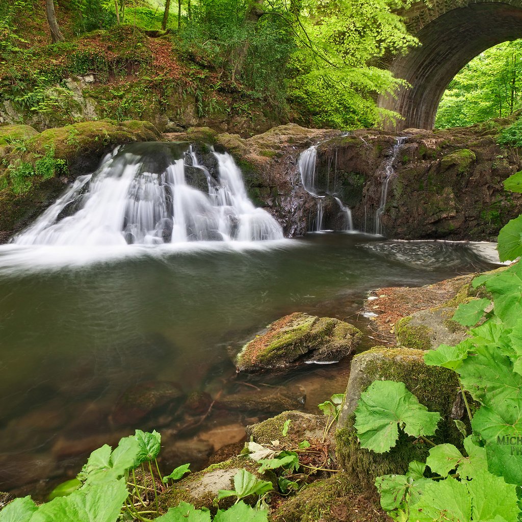
[{"label": "low mossy rock at water's edge, just above pale withered leaf", "polygon": [[[290,421],[286,436],[282,435],[284,423]],[[321,441],[327,418],[302,411],[283,411],[276,417],[246,426],[246,434],[258,444],[279,441],[283,449],[295,449],[303,441]]]}]

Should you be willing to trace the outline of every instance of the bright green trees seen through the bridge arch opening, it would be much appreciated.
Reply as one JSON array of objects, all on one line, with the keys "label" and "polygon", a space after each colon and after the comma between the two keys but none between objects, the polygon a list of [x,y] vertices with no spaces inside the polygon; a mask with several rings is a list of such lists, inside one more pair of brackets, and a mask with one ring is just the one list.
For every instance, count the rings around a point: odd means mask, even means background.
[{"label": "bright green trees seen through the bridge arch opening", "polygon": [[[507,116],[522,105],[522,40],[504,42],[473,58],[450,81],[438,106],[436,128],[461,127]],[[522,144],[520,126],[502,140]],[[518,145],[517,145],[518,146]]]}]

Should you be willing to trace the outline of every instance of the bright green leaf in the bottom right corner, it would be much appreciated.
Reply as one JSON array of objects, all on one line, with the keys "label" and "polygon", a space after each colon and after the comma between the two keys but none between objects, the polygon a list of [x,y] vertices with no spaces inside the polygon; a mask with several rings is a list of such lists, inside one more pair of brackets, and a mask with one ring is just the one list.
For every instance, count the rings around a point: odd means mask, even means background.
[{"label": "bright green leaf in the bottom right corner", "polygon": [[505,520],[517,520],[520,511],[515,485],[506,484],[501,477],[486,470],[478,472],[466,485],[472,498],[473,520],[493,520],[499,516]]}]

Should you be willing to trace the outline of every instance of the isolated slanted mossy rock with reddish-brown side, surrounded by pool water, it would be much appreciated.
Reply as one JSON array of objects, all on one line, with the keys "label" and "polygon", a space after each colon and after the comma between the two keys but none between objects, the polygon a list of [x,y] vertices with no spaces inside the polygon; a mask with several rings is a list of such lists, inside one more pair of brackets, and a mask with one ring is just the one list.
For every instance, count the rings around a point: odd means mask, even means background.
[{"label": "isolated slanted mossy rock with reddish-brown side, surrounded by pool water", "polygon": [[361,337],[360,330],[339,319],[294,312],[246,343],[236,365],[241,372],[264,372],[306,362],[339,361],[354,350]]}]

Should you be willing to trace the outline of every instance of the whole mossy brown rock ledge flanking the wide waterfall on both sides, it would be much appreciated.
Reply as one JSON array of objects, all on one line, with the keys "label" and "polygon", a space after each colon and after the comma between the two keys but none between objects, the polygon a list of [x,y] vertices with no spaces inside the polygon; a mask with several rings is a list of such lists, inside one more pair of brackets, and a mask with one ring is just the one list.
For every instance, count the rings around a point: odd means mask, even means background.
[{"label": "whole mossy brown rock ledge flanking the wide waterfall on both sides", "polygon": [[[342,135],[288,124],[244,139],[207,127],[161,135],[148,122],[88,122],[42,133],[2,126],[0,240],[26,227],[116,145],[143,140],[194,143],[201,161],[215,162],[209,146],[229,151],[248,196],[277,219],[286,237],[353,227],[393,239],[491,240],[522,211],[522,197],[503,189],[520,159],[516,149],[496,143],[499,128],[479,124],[401,134],[361,129]],[[304,180],[300,158],[307,149],[312,176]],[[39,175],[35,165],[49,159],[49,151],[64,167]],[[21,172],[23,165],[27,172]],[[27,176],[29,188],[16,193],[14,175]]]}]

